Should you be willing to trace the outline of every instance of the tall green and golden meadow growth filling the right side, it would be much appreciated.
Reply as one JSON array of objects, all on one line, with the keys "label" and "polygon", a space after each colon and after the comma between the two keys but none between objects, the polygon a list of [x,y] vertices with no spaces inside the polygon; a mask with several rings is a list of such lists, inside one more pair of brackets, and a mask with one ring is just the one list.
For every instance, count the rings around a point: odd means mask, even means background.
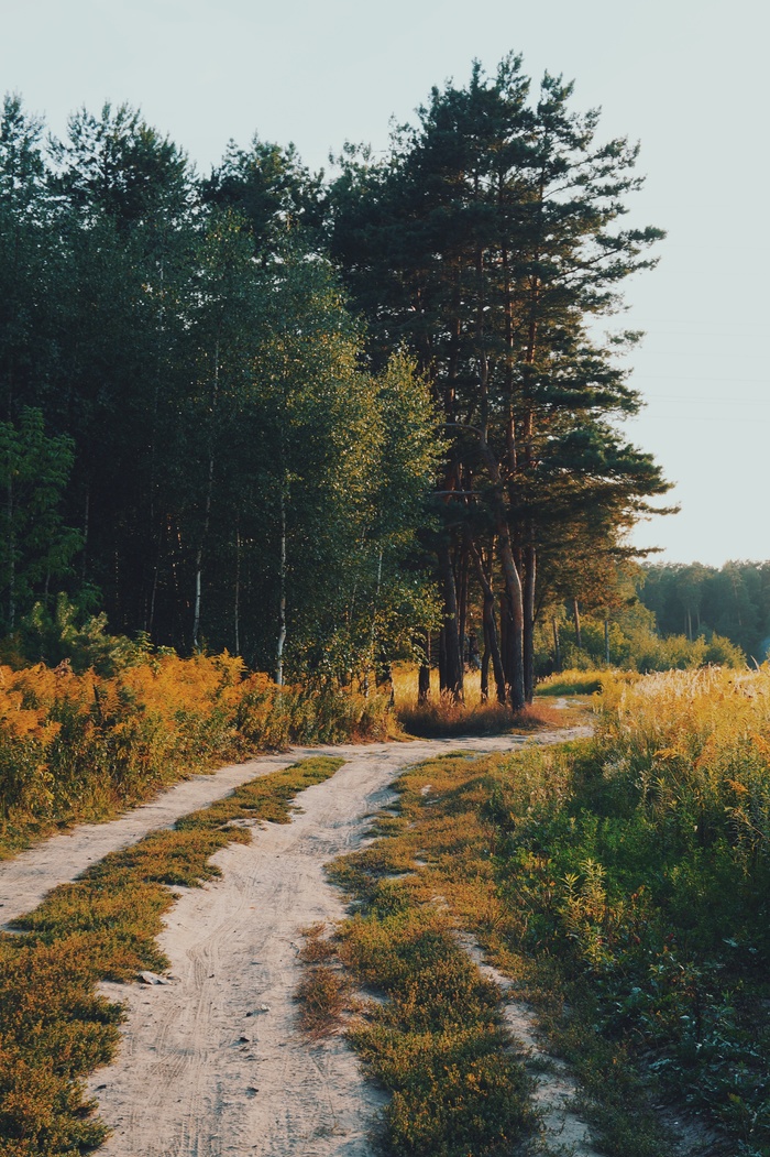
[{"label": "tall green and golden meadow growth filling the right side", "polygon": [[528,753],[487,804],[511,943],[557,967],[586,1083],[591,1041],[622,1041],[725,1151],[765,1157],[770,670],[609,681],[597,709],[592,743]]}]

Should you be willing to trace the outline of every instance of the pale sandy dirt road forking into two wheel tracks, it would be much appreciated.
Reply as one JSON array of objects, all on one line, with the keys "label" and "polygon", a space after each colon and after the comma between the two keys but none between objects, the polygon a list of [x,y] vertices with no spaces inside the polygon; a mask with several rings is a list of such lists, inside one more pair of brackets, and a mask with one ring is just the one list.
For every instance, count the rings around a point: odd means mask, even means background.
[{"label": "pale sandy dirt road forking into two wheel tracks", "polygon": [[304,756],[347,759],[298,797],[302,811],[290,824],[257,827],[251,845],[219,852],[221,879],[180,890],[161,937],[171,985],[104,986],[128,1008],[117,1062],[89,1083],[114,1130],[104,1157],[369,1155],[378,1098],[355,1056],[341,1039],[312,1045],[296,1030],[301,929],[343,915],[324,864],[361,842],[367,817],[392,798],[388,787],[403,767],[442,751],[504,751],[523,742],[508,736],[295,749],[197,778],[119,820],[57,837],[0,864],[3,913],[27,911],[91,860],[237,783]]}]

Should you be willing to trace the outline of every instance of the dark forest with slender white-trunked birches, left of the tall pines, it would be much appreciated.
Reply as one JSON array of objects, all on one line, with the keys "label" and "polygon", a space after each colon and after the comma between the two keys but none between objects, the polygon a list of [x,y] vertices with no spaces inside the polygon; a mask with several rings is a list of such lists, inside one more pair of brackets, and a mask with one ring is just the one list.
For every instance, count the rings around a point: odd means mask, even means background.
[{"label": "dark forest with slender white-trunked birches, left of the tall pines", "polygon": [[[35,602],[55,619],[55,582],[99,590],[116,636],[275,671],[286,626],[286,676],[380,666],[434,614],[410,555],[435,414],[407,359],[365,367],[320,178],[256,140],[195,182],[127,105],[42,139],[7,98],[0,628]],[[61,650],[36,631],[35,657]]]}]

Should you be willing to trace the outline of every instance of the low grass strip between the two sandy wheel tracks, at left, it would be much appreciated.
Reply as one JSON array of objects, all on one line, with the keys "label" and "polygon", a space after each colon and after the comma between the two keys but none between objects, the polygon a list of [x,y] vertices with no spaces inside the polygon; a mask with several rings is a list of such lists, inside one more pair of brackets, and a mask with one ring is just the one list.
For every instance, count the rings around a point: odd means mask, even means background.
[{"label": "low grass strip between the two sandy wheel tracks, at left", "polygon": [[288,823],[294,797],[342,762],[306,759],[245,783],[106,856],[16,921],[21,935],[0,935],[0,1157],[75,1157],[104,1140],[83,1077],[114,1055],[123,1012],[97,982],[166,967],[156,937],[173,885],[217,876],[212,855],[251,839],[235,820]]}]

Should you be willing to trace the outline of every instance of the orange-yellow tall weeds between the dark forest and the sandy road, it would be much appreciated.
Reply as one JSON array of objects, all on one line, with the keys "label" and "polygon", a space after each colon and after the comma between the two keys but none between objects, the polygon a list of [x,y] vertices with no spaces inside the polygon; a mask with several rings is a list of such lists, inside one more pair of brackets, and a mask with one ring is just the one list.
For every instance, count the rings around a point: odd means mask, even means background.
[{"label": "orange-yellow tall weeds between the dark forest and the sandy road", "polygon": [[139,654],[112,676],[0,668],[0,857],[75,820],[290,743],[384,738],[385,695],[277,687],[227,653]]}]

